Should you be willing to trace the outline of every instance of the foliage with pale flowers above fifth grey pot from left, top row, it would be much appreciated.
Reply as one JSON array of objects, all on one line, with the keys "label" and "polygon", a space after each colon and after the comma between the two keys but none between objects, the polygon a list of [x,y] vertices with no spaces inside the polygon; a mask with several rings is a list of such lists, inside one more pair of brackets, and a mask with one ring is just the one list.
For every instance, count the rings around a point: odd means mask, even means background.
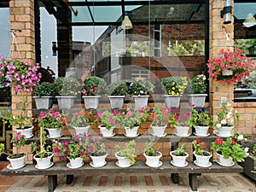
[{"label": "foliage with pale flowers above fifth grey pot from left, top row", "polygon": [[143,78],[137,78],[131,82],[131,88],[134,96],[149,96],[154,91],[154,85]]}]

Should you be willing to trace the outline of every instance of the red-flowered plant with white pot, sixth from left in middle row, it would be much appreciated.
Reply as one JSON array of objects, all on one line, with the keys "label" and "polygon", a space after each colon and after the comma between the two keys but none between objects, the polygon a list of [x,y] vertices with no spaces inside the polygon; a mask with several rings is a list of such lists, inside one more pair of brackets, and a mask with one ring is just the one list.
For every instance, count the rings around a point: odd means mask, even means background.
[{"label": "red-flowered plant with white pot, sixth from left in middle row", "polygon": [[152,108],[151,113],[151,128],[155,137],[165,137],[166,124],[168,120],[168,114],[171,112],[171,108],[165,108],[164,106],[155,106]]}]

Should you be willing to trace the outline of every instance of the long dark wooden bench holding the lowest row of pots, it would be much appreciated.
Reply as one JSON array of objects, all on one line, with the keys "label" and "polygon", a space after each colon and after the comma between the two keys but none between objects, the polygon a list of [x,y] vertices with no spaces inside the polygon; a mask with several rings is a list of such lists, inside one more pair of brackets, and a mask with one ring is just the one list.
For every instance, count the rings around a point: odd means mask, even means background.
[{"label": "long dark wooden bench holding the lowest row of pots", "polygon": [[115,162],[110,161],[106,166],[100,168],[91,167],[88,163],[78,169],[67,168],[66,163],[55,163],[54,166],[45,170],[38,170],[34,165],[26,165],[19,170],[9,170],[4,168],[2,175],[6,176],[23,176],[23,175],[44,175],[48,177],[48,191],[53,192],[57,186],[57,177],[61,175],[67,176],[67,184],[72,183],[73,175],[100,175],[100,174],[126,174],[126,173],[188,173],[189,185],[193,191],[197,190],[197,176],[201,173],[213,172],[243,172],[243,168],[239,165],[224,167],[217,163],[212,163],[210,167],[195,166],[193,162],[189,162],[188,166],[176,167],[172,166],[170,161],[164,161],[163,165],[158,168],[151,168],[145,165],[144,161],[137,161],[135,165],[120,168]]}]

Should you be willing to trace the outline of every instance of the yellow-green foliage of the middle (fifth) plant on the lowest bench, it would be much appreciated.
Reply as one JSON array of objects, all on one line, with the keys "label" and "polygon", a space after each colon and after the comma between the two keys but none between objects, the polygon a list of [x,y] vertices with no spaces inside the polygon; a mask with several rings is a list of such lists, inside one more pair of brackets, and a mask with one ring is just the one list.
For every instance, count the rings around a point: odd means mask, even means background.
[{"label": "yellow-green foliage of the middle (fifth) plant on the lowest bench", "polygon": [[119,156],[125,157],[125,159],[130,160],[131,165],[133,165],[136,162],[135,145],[135,141],[131,140],[130,142],[125,143],[125,148],[122,148],[119,144],[116,144],[114,148],[117,150]]}]

